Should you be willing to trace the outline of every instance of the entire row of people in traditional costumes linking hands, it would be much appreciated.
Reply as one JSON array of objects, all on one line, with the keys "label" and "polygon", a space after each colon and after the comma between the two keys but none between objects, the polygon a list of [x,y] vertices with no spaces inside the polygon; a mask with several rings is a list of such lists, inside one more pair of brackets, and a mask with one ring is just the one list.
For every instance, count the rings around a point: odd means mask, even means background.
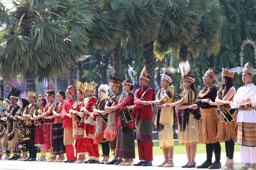
[{"label": "entire row of people in traditional costumes linking hands", "polygon": [[[178,142],[186,146],[187,163],[182,168],[196,166],[196,144],[206,144],[207,160],[197,168],[231,169],[234,166],[234,145],[241,145],[243,168],[255,170],[256,162],[256,86],[252,84],[254,70],[249,63],[243,68],[242,79],[245,86],[234,88],[234,72],[222,71],[222,87],[215,85],[216,75],[213,70],[206,71],[203,82],[206,84],[197,95],[193,69],[189,62],[179,64],[183,88],[178,101],[175,91],[170,88],[174,79],[173,69],[165,68],[161,87],[154,99],[154,89],[148,86],[149,75],[143,68],[139,84],[141,88],[133,94],[133,82],[122,81],[110,76],[112,95],[108,96],[109,87],[99,87],[99,100],[93,95],[93,86],[76,82],[78,101],[73,100],[74,87],[69,86],[66,94],[59,91],[55,103],[54,91],[46,91],[48,104],[44,96],[38,98],[40,108],[34,103],[35,93],[21,97],[22,108],[16,104],[20,90],[12,88],[11,96],[4,102],[1,112],[1,145],[7,156],[13,151],[12,159],[34,161],[36,147],[41,147],[38,161],[63,162],[64,153],[67,161],[74,163],[100,163],[131,165],[135,158],[134,128],[136,126],[139,163],[135,166],[150,166],[153,161],[152,142],[152,104],[156,104],[157,113],[154,124],[159,135],[159,146],[163,149],[164,161],[157,167],[173,167],[173,107],[180,108],[178,114]],[[125,93],[119,94],[123,84]],[[84,87],[85,86],[85,87]],[[64,101],[65,97],[68,101]],[[220,107],[218,116],[217,106]],[[201,114],[198,108],[201,108]],[[238,108],[238,116],[235,108]],[[35,121],[35,122],[34,122]],[[199,125],[198,125],[199,122]],[[238,122],[238,133],[237,133]],[[3,133],[4,132],[4,133]],[[35,133],[36,132],[36,133]],[[36,135],[35,135],[36,134]],[[19,141],[19,145],[18,142]],[[225,142],[227,160],[221,167],[220,142]],[[33,145],[34,143],[34,145]],[[103,160],[99,161],[98,144],[102,145]],[[110,144],[110,146],[109,146]],[[109,161],[110,149],[114,159]],[[20,157],[22,150],[22,157]],[[50,158],[46,160],[46,150]],[[27,156],[29,151],[29,157]],[[213,151],[215,162],[212,163]],[[85,161],[85,154],[89,160]],[[15,156],[16,155],[16,156]],[[60,155],[56,159],[55,155]],[[8,157],[7,157],[8,158]],[[124,158],[124,160],[123,160]],[[5,159],[5,158],[4,158]],[[250,163],[252,164],[250,164]]]}]

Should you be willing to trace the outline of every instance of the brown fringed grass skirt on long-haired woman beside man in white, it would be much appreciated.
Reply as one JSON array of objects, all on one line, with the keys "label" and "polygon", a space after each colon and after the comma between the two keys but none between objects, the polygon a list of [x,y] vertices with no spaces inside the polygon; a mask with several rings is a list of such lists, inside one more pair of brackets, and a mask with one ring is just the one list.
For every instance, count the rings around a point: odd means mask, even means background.
[{"label": "brown fringed grass skirt on long-haired woman beside man in white", "polygon": [[237,120],[237,114],[234,111],[232,114],[232,117],[234,118],[233,121],[231,121],[231,124],[225,121],[223,119],[225,118],[223,113],[220,113],[220,119],[219,119],[219,135],[218,138],[220,139],[220,142],[222,141],[230,141],[231,139],[234,140],[234,144],[237,141],[237,127],[236,127],[236,120]]}]

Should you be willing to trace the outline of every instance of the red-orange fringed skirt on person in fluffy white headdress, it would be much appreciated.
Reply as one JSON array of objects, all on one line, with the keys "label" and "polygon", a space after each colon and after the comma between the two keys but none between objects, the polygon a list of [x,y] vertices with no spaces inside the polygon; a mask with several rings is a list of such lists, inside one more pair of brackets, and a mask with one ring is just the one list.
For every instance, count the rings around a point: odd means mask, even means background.
[{"label": "red-orange fringed skirt on person in fluffy white headdress", "polygon": [[108,140],[104,139],[104,131],[106,130],[106,123],[102,120],[101,117],[97,117],[95,125],[95,135],[93,137],[93,143],[98,144],[101,142],[107,142]]}]

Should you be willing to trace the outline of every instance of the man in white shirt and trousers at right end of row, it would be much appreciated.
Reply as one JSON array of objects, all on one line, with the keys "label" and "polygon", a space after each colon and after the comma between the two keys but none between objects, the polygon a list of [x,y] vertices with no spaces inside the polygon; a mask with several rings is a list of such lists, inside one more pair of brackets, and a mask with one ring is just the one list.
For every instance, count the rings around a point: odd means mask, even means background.
[{"label": "man in white shirt and trousers at right end of row", "polygon": [[238,109],[237,144],[240,145],[241,162],[237,170],[256,170],[256,86],[252,84],[254,69],[250,63],[244,65],[242,79],[245,86],[240,87],[230,102],[231,108]]}]

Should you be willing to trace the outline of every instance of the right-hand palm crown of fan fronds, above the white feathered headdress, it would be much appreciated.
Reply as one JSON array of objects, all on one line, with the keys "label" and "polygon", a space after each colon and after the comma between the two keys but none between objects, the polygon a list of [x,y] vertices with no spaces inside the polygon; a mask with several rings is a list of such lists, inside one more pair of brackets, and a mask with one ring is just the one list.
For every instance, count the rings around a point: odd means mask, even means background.
[{"label": "right-hand palm crown of fan fronds, above the white feathered headdress", "polygon": [[167,12],[167,20],[163,21],[155,44],[159,58],[170,49],[174,56],[180,54],[181,60],[187,59],[188,52],[195,57],[200,52],[208,57],[216,55],[220,50],[219,34],[224,20],[218,0],[189,1],[185,7],[184,3]]}]

